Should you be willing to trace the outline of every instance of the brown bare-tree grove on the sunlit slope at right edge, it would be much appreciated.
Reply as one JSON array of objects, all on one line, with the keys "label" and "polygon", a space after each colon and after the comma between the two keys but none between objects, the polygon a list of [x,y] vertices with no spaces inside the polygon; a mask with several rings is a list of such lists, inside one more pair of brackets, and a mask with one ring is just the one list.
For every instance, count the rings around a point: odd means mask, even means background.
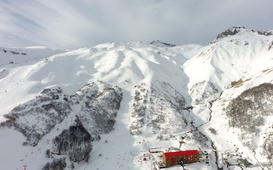
[{"label": "brown bare-tree grove on the sunlit slope at right edge", "polygon": [[229,126],[254,132],[263,124],[263,116],[272,114],[273,84],[263,83],[242,92],[225,108]]}]

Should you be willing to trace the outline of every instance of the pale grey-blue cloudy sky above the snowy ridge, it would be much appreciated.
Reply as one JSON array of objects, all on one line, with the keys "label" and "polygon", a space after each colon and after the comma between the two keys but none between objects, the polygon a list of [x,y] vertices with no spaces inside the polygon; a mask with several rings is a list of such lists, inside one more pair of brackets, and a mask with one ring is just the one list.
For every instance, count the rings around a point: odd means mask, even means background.
[{"label": "pale grey-blue cloudy sky above the snowy ridge", "polygon": [[272,0],[0,0],[0,45],[93,47],[153,40],[207,45],[224,30],[273,30]]}]

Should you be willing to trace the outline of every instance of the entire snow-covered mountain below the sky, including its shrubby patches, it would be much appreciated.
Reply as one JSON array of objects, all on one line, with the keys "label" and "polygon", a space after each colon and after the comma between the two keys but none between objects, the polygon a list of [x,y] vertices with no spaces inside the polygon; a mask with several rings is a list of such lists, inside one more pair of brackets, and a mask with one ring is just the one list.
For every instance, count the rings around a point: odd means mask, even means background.
[{"label": "entire snow-covered mountain below the sky, including its shrubby patches", "polygon": [[[232,27],[205,47],[160,41],[1,47],[2,168],[42,169],[51,157],[66,157],[65,169],[70,160],[79,162],[75,169],[151,169],[152,161],[138,157],[173,146],[210,152],[210,165],[186,169],[238,169],[224,163],[232,152],[251,169],[270,169],[272,46],[271,31]],[[80,138],[76,132],[87,144],[64,140]]]}]

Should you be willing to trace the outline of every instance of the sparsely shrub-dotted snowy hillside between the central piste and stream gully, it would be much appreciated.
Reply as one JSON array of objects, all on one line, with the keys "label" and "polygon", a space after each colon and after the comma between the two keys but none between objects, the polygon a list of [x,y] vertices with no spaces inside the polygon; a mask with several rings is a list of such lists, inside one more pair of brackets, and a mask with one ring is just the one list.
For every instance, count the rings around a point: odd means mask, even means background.
[{"label": "sparsely shrub-dotted snowy hillside between the central piste and stream gully", "polygon": [[154,134],[169,134],[186,126],[180,112],[185,106],[185,99],[170,84],[146,82],[136,85],[134,89],[131,111],[133,121],[129,127],[132,135],[140,135],[146,128]]}]

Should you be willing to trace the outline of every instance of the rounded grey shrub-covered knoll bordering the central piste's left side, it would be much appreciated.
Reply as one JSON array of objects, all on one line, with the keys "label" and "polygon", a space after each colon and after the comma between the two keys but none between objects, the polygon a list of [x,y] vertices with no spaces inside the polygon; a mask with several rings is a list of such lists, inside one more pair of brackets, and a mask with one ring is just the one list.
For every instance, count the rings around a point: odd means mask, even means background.
[{"label": "rounded grey shrub-covered knoll bordering the central piste's left side", "polygon": [[[101,81],[92,82],[78,90],[70,99],[82,101],[81,112],[78,114],[92,135],[109,133],[114,129],[117,111],[122,100],[121,89]],[[78,102],[77,102],[78,103]],[[99,139],[99,137],[96,137]]]}]

